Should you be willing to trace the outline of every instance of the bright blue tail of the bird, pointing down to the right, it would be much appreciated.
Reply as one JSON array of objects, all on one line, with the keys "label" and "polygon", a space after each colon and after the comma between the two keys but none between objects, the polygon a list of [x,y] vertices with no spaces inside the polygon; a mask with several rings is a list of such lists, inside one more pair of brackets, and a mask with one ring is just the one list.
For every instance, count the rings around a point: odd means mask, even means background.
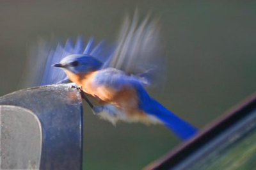
[{"label": "bright blue tail of the bird, pointing down to the right", "polygon": [[185,141],[196,134],[197,129],[193,127],[193,125],[182,120],[163,105],[159,104],[159,102],[151,98],[147,91],[141,86],[138,88],[138,94],[141,101],[140,108],[144,112],[147,112],[147,114],[155,116],[158,120],[162,121],[164,125],[172,130],[180,139]]}]

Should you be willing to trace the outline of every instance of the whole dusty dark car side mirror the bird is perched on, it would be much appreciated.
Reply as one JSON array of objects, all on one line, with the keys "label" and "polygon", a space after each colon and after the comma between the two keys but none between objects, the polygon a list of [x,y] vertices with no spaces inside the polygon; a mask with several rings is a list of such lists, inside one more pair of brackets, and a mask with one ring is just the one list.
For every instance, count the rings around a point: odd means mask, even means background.
[{"label": "whole dusty dark car side mirror the bird is perched on", "polygon": [[0,169],[81,169],[82,100],[58,84],[0,98]]}]

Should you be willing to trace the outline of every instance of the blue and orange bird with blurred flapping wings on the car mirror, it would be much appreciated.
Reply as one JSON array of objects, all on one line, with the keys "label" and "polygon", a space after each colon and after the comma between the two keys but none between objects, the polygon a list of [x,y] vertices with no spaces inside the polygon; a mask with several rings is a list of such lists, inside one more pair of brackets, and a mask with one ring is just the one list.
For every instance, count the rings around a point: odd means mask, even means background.
[{"label": "blue and orange bird with blurred flapping wings on the car mirror", "polygon": [[[189,139],[196,134],[196,128],[150,97],[146,90],[164,75],[160,71],[163,54],[157,23],[156,20],[149,22],[146,17],[138,24],[138,15],[134,15],[132,21],[125,18],[114,45],[106,47],[104,42],[93,45],[90,39],[83,50],[83,41],[78,38],[74,46],[67,41],[65,47],[59,45],[55,50],[48,50],[50,57],[46,64],[53,63],[59,56],[60,61],[54,66],[64,72],[47,68],[42,84],[57,79],[71,81],[95,100],[93,112],[113,124],[116,121],[163,123],[180,139]],[[55,78],[47,82],[49,75]]]}]

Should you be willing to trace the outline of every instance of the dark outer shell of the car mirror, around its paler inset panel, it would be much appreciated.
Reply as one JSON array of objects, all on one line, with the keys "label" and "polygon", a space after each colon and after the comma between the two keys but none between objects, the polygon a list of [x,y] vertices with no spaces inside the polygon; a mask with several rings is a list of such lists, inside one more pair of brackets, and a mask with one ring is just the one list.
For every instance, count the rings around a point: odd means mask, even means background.
[{"label": "dark outer shell of the car mirror, around its paler inset panel", "polygon": [[81,104],[80,93],[66,84],[22,89],[0,98],[0,105],[24,107],[38,117],[42,125],[40,169],[81,169]]}]

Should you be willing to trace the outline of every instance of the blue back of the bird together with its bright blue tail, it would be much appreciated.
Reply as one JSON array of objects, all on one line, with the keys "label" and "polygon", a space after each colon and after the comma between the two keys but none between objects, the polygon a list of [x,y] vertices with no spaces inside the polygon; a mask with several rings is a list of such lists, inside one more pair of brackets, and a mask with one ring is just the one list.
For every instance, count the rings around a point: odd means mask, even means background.
[{"label": "blue back of the bird together with its bright blue tail", "polygon": [[114,89],[122,89],[124,86],[133,86],[139,97],[139,108],[149,115],[156,117],[166,127],[172,130],[180,139],[187,140],[196,134],[193,125],[182,120],[173,112],[168,111],[163,105],[151,98],[138,77],[126,75],[125,72],[115,68],[100,70],[93,79],[93,86],[109,86]]}]

